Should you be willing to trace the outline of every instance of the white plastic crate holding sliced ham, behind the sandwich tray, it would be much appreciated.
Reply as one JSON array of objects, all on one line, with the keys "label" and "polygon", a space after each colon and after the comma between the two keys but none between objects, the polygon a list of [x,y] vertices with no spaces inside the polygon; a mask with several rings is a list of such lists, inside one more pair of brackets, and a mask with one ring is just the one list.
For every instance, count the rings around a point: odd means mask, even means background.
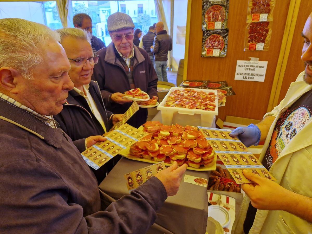
[{"label": "white plastic crate holding sliced ham, behind the sandwich tray", "polygon": [[[193,125],[212,127],[215,116],[218,115],[218,98],[215,100],[216,108],[214,111],[187,109],[181,107],[168,107],[166,105],[168,96],[174,90],[184,90],[182,87],[172,87],[168,94],[164,97],[163,101],[158,105],[157,110],[161,110],[162,123],[164,125],[180,124],[180,125]],[[193,89],[195,91],[203,91],[205,93],[214,93],[217,96],[217,90],[209,89]]]}]

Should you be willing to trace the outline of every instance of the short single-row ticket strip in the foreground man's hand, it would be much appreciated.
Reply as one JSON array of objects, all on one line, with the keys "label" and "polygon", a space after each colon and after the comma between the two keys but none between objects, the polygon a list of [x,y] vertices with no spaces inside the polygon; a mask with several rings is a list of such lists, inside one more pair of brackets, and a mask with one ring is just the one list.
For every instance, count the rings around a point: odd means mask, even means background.
[{"label": "short single-row ticket strip in the foreground man's hand", "polygon": [[138,188],[141,184],[145,183],[149,178],[158,172],[166,169],[164,162],[155,163],[148,167],[141,168],[139,170],[130,172],[124,175],[127,188],[129,192],[135,188]]}]

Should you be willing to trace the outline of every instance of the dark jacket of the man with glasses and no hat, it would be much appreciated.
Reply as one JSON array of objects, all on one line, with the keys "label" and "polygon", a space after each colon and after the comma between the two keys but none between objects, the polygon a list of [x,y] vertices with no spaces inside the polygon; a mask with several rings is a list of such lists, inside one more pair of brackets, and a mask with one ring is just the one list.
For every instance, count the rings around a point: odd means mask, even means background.
[{"label": "dark jacket of the man with glasses and no hat", "polygon": [[[109,131],[113,125],[110,120],[110,116],[113,113],[106,111],[100,88],[96,81],[91,80],[89,92],[103,118],[106,131]],[[85,151],[85,138],[105,134],[103,127],[93,115],[85,98],[75,90],[69,91],[67,102],[63,104],[63,110],[58,115],[55,115],[54,118],[59,123],[61,129],[71,137],[80,152]],[[117,159],[118,156],[97,170],[91,168],[99,184],[105,178],[106,172],[110,171],[114,164],[117,163]]]}]

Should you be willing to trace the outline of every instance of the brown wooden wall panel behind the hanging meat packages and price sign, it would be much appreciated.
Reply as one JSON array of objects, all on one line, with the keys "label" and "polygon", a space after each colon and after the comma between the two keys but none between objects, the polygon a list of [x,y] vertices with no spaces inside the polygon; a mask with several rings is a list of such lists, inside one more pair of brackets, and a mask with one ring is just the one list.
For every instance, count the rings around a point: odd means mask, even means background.
[{"label": "brown wooden wall panel behind the hanging meat packages and price sign", "polygon": [[[276,1],[272,38],[269,51],[243,51],[246,28],[247,0],[231,0],[229,6],[229,39],[227,56],[202,58],[202,1],[193,0],[191,6],[190,37],[188,47],[188,80],[227,80],[236,95],[227,97],[225,107],[219,108],[219,118],[226,115],[262,119],[271,93],[275,67],[284,33],[290,0]],[[236,61],[258,57],[269,61],[264,82],[234,80]]]}]

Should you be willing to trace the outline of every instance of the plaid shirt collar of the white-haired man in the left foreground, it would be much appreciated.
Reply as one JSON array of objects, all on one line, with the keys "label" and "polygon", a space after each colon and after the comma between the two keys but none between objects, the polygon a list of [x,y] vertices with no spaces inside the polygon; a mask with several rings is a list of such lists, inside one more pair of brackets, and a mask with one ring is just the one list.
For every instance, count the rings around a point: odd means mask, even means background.
[{"label": "plaid shirt collar of the white-haired man in the left foreground", "polygon": [[11,97],[3,94],[3,93],[0,93],[0,99],[29,112],[31,115],[35,116],[37,119],[39,119],[42,122],[44,122],[45,124],[49,125],[51,128],[57,128],[56,122],[55,122],[52,115],[41,115],[38,112],[28,108],[27,106],[19,103],[18,101],[14,100],[13,98],[11,98]]}]

